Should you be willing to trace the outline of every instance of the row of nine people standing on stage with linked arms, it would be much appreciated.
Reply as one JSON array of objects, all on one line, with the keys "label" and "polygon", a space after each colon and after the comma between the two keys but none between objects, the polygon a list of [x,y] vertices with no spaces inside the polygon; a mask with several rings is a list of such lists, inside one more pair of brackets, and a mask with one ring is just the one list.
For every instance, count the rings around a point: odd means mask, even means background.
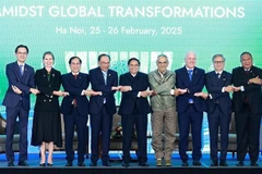
[{"label": "row of nine people standing on stage with linked arms", "polygon": [[[110,55],[98,55],[98,67],[81,73],[82,60],[69,60],[71,72],[61,75],[52,67],[52,52],[43,55],[44,67],[37,70],[25,63],[28,48],[15,48],[16,61],[7,65],[9,87],[3,100],[7,108],[7,160],[14,166],[12,150],[14,124],[20,120],[20,156],[17,165],[27,166],[27,123],[31,109],[29,95],[36,95],[32,129],[32,145],[40,148],[40,166],[52,166],[53,146],[61,147],[61,113],[66,132],[66,166],[72,166],[74,151],[72,141],[78,134],[78,165],[85,166],[84,156],[87,142],[87,119],[91,117],[91,163],[110,166],[109,146],[112,115],[117,112],[115,92],[121,91],[118,114],[122,126],[122,166],[129,166],[132,133],[138,135],[138,161],[140,166],[148,166],[146,153],[147,114],[152,113],[152,147],[156,166],[170,166],[175,150],[176,123],[179,126],[179,156],[182,166],[188,166],[188,137],[192,134],[192,165],[201,165],[201,128],[203,112],[207,112],[211,139],[211,166],[227,166],[226,156],[231,112],[236,115],[237,160],[243,166],[249,151],[250,165],[258,166],[259,128],[262,108],[262,70],[253,65],[250,52],[240,55],[242,66],[228,73],[224,70],[225,58],[212,58],[214,71],[195,66],[196,55],[188,52],[186,65],[175,72],[167,70],[168,58],[159,54],[157,69],[148,75],[140,72],[136,58],[128,60],[129,72],[120,75],[110,70]],[[63,90],[60,90],[62,85]],[[91,85],[91,87],[88,87]],[[203,91],[204,86],[207,92]],[[230,98],[233,92],[233,99]],[[61,105],[59,97],[62,97]],[[87,98],[88,97],[88,98]],[[148,102],[148,98],[150,102]],[[218,128],[221,133],[221,156],[217,154]],[[165,144],[163,144],[163,134]],[[102,154],[99,153],[102,138]],[[48,148],[48,158],[46,158]]]}]

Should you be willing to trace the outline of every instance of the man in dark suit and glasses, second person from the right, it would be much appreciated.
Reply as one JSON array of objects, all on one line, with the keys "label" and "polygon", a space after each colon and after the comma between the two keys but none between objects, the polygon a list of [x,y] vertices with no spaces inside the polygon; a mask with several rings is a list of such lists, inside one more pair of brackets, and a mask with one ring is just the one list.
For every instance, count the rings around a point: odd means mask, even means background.
[{"label": "man in dark suit and glasses, second person from the right", "polygon": [[206,73],[205,86],[209,91],[207,119],[210,126],[211,166],[218,165],[217,139],[221,127],[221,162],[219,165],[227,166],[228,132],[231,119],[231,99],[229,92],[231,86],[231,74],[224,71],[225,58],[215,54],[212,59],[214,71]]}]

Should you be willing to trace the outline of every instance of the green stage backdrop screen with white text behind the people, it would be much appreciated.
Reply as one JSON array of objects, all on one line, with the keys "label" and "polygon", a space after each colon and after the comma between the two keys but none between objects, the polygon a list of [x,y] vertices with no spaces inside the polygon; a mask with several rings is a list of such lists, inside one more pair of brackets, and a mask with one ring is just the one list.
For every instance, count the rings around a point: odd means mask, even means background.
[{"label": "green stage backdrop screen with white text behind the people", "polygon": [[111,69],[119,75],[128,71],[131,57],[140,59],[142,72],[155,70],[160,53],[175,71],[190,50],[206,72],[213,70],[216,53],[225,55],[231,72],[243,51],[261,67],[261,9],[260,0],[1,0],[0,101],[8,87],[5,64],[15,61],[20,44],[28,46],[26,62],[35,70],[41,69],[43,53],[52,51],[61,73],[70,71],[72,55],[79,55],[82,71],[88,72],[103,52],[111,55]]}]

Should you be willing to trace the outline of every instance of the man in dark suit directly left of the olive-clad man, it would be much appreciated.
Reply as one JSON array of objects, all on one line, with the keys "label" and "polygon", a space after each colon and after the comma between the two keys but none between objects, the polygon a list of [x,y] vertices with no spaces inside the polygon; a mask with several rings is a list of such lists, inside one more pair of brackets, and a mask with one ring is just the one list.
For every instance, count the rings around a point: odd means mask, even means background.
[{"label": "man in dark suit directly left of the olive-clad man", "polygon": [[129,166],[130,163],[130,147],[132,142],[132,133],[135,124],[138,136],[138,158],[139,165],[148,166],[147,148],[146,148],[146,132],[147,132],[147,114],[151,113],[151,107],[147,101],[147,96],[151,91],[148,77],[146,74],[139,72],[140,61],[136,58],[131,58],[128,61],[129,72],[120,76],[120,90],[122,99],[118,113],[121,115],[122,125],[122,151],[123,166]]}]

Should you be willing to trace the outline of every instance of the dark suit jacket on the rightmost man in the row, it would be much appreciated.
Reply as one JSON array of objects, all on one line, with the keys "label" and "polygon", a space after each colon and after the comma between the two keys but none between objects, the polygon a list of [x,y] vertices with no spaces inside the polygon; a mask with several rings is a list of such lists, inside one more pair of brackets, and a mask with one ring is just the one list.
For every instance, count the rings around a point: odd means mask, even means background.
[{"label": "dark suit jacket on the rightmost man in the row", "polygon": [[254,78],[257,76],[262,78],[262,70],[257,66],[251,66],[248,75],[242,66],[233,70],[233,85],[237,87],[243,86],[245,89],[245,91],[240,90],[233,94],[233,105],[235,112],[241,112],[242,105],[247,98],[252,113],[261,113],[261,86],[248,84],[250,78]]}]

